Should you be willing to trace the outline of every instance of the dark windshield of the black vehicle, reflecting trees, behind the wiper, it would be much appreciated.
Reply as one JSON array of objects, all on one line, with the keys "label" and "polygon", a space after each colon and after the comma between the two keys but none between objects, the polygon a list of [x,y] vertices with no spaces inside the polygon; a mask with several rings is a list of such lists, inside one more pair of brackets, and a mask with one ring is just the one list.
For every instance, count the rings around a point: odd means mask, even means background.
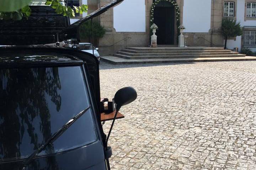
[{"label": "dark windshield of the black vehicle, reflecting trees, behind the wiper", "polygon": [[[0,69],[0,162],[26,158],[89,107],[80,66]],[[89,109],[39,155],[96,141]]]}]

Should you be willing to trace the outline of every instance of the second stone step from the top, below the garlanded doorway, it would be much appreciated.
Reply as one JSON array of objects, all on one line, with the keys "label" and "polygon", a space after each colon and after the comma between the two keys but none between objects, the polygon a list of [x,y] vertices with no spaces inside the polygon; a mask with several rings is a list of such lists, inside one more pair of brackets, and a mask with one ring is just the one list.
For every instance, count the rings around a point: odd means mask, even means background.
[{"label": "second stone step from the top, below the garlanded doorway", "polygon": [[137,51],[137,50],[129,50],[123,49],[123,52],[129,53],[182,53],[182,52],[231,52],[231,50],[162,50],[162,51]]}]

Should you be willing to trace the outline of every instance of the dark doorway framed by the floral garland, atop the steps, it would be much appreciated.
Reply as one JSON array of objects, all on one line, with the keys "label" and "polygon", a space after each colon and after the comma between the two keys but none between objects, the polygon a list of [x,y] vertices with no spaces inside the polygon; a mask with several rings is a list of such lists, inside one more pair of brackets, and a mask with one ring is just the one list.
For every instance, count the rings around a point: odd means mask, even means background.
[{"label": "dark doorway framed by the floral garland, atop the steps", "polygon": [[154,23],[158,26],[156,30],[157,44],[174,44],[174,6],[156,6],[154,10]]}]

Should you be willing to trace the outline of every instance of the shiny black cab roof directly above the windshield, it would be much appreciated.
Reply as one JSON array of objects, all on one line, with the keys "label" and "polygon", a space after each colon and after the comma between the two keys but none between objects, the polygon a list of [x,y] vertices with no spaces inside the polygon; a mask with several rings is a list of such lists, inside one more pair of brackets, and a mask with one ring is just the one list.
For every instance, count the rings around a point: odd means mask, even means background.
[{"label": "shiny black cab roof directly above the windshield", "polygon": [[[83,61],[63,53],[51,51],[54,47],[9,46],[0,47],[0,67],[32,65],[77,65]],[[45,49],[48,49],[45,51]]]}]

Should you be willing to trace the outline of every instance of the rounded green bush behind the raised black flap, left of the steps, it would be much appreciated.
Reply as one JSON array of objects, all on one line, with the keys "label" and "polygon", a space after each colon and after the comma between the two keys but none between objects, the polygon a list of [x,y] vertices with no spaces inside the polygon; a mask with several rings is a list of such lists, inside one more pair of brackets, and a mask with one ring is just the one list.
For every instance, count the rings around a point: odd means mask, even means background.
[{"label": "rounded green bush behind the raised black flap, left of the steps", "polygon": [[[93,21],[94,38],[102,38],[106,33],[106,29],[100,25],[100,23]],[[80,38],[88,38],[91,42],[92,38],[92,27],[91,21],[87,21],[82,24],[79,28]]]}]

